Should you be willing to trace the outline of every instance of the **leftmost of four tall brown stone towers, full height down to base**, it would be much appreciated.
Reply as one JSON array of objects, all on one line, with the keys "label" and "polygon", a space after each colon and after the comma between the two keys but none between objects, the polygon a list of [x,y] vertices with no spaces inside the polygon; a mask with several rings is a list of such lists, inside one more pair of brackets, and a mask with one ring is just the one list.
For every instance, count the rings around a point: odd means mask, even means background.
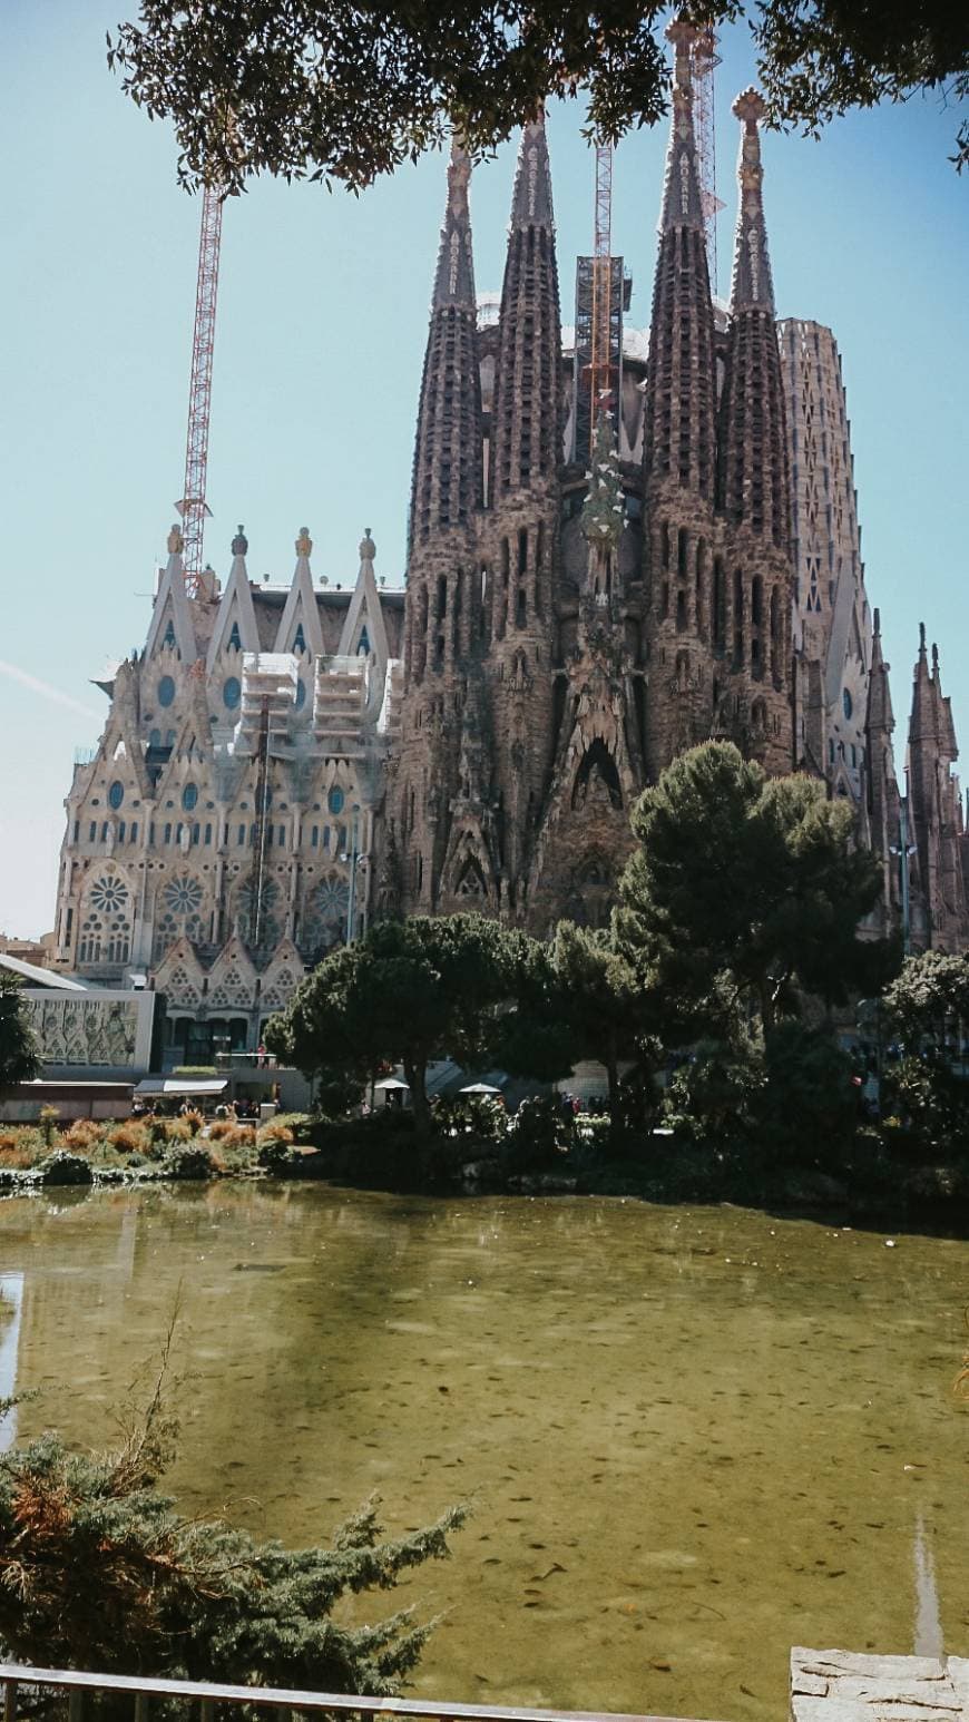
[{"label": "leftmost of four tall brown stone towers, full height down to base", "polygon": [[408,911],[437,906],[447,806],[460,765],[458,665],[480,639],[477,530],[482,508],[482,410],[475,343],[475,270],[468,184],[458,141],[434,277],[413,460],[404,697],[391,784],[394,895]]}]

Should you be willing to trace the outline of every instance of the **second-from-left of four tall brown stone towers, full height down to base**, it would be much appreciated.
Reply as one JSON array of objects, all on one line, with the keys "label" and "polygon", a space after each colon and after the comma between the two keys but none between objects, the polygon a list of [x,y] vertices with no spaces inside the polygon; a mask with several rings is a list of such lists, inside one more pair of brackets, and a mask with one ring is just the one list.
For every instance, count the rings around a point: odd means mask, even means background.
[{"label": "second-from-left of four tall brown stone towers, full height down to base", "polygon": [[503,906],[525,914],[525,880],[552,751],[552,570],[559,537],[563,363],[544,121],[525,126],[494,375],[489,523],[489,682]]}]

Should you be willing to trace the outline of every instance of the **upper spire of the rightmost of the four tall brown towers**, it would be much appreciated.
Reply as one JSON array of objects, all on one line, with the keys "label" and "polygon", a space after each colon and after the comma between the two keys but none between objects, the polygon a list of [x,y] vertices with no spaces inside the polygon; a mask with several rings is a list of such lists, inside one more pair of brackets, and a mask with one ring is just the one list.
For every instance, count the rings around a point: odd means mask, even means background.
[{"label": "upper spire of the rightmost of the four tall brown towers", "polygon": [[733,253],[730,346],[719,436],[719,486],[726,517],[766,542],[790,542],[790,484],[775,289],[761,196],[757,124],[764,102],[756,90],[737,96],[744,131],[737,177],[740,212]]}]

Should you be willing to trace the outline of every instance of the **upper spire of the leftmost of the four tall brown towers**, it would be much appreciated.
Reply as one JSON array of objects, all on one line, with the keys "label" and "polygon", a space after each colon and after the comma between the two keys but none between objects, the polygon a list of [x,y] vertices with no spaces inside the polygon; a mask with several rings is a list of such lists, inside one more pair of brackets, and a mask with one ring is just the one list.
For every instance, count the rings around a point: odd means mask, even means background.
[{"label": "upper spire of the leftmost of the four tall brown towers", "polygon": [[441,530],[470,527],[475,508],[482,505],[482,403],[475,350],[470,174],[468,155],[454,141],[420,384],[411,551]]}]

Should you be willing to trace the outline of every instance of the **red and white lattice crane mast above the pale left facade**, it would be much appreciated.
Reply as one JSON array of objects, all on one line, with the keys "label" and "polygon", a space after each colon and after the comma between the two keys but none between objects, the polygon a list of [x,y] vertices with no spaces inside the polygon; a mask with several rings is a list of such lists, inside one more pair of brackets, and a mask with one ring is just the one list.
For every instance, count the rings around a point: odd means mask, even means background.
[{"label": "red and white lattice crane mast above the pale left facade", "polygon": [[222,189],[207,184],[201,198],[198,241],[198,284],[194,293],[194,338],[188,398],[186,479],[181,503],[186,592],[203,596],[201,544],[205,518],[205,468],[208,465],[208,410],[212,405],[212,351],[215,346],[215,301],[219,296],[219,248],[222,243]]}]

